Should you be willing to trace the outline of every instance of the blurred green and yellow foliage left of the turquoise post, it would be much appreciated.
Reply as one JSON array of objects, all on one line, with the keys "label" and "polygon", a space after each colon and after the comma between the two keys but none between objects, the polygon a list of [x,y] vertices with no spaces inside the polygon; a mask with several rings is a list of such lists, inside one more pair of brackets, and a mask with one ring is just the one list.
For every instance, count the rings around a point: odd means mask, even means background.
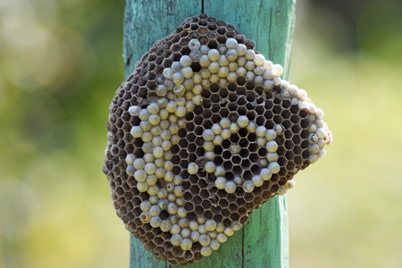
[{"label": "blurred green and yellow foliage left of the turquoise post", "polygon": [[[128,265],[101,168],[124,3],[0,3],[0,267]],[[114,226],[114,227],[113,227]]]}]

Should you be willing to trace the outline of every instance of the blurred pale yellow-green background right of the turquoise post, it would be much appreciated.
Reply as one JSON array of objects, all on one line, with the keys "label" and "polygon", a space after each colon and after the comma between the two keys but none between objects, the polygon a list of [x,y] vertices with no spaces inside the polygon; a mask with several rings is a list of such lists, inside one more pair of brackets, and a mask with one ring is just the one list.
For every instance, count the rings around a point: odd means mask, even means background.
[{"label": "blurred pale yellow-green background right of the turquoise post", "polygon": [[340,2],[343,13],[337,1],[297,13],[290,80],[322,107],[334,141],[288,195],[290,265],[399,267],[402,5]]}]

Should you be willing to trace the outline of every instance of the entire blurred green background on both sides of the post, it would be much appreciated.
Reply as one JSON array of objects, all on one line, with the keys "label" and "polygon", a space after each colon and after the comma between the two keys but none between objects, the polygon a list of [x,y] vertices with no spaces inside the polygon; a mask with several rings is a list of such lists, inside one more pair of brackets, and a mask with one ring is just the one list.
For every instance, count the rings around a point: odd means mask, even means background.
[{"label": "entire blurred green background on both sides of the post", "polygon": [[[0,2],[0,268],[128,267],[101,172],[124,3]],[[297,2],[290,81],[334,141],[289,192],[290,266],[402,265],[402,4]]]}]

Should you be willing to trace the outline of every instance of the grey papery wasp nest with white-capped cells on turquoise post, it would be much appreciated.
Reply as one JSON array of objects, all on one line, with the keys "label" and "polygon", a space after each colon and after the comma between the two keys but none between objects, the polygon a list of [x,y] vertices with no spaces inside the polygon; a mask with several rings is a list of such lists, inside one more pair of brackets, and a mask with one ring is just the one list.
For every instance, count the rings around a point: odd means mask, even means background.
[{"label": "grey papery wasp nest with white-capped cells on turquoise post", "polygon": [[233,25],[201,14],[121,84],[104,172],[117,214],[153,255],[180,265],[211,255],[325,155],[322,110],[282,72]]}]

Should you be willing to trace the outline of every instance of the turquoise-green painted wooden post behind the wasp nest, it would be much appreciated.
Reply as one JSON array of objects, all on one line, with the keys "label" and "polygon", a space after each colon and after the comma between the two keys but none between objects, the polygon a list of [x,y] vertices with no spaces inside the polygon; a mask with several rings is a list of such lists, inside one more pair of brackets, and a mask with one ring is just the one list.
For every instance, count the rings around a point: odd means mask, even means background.
[{"label": "turquoise-green painted wooden post behind the wasp nest", "polygon": [[[126,77],[142,54],[169,35],[184,19],[207,13],[236,26],[256,49],[289,73],[296,0],[126,0],[124,63]],[[274,197],[256,210],[228,241],[187,267],[263,268],[289,266],[286,197]],[[138,239],[130,240],[130,268],[172,267],[151,255]]]}]

